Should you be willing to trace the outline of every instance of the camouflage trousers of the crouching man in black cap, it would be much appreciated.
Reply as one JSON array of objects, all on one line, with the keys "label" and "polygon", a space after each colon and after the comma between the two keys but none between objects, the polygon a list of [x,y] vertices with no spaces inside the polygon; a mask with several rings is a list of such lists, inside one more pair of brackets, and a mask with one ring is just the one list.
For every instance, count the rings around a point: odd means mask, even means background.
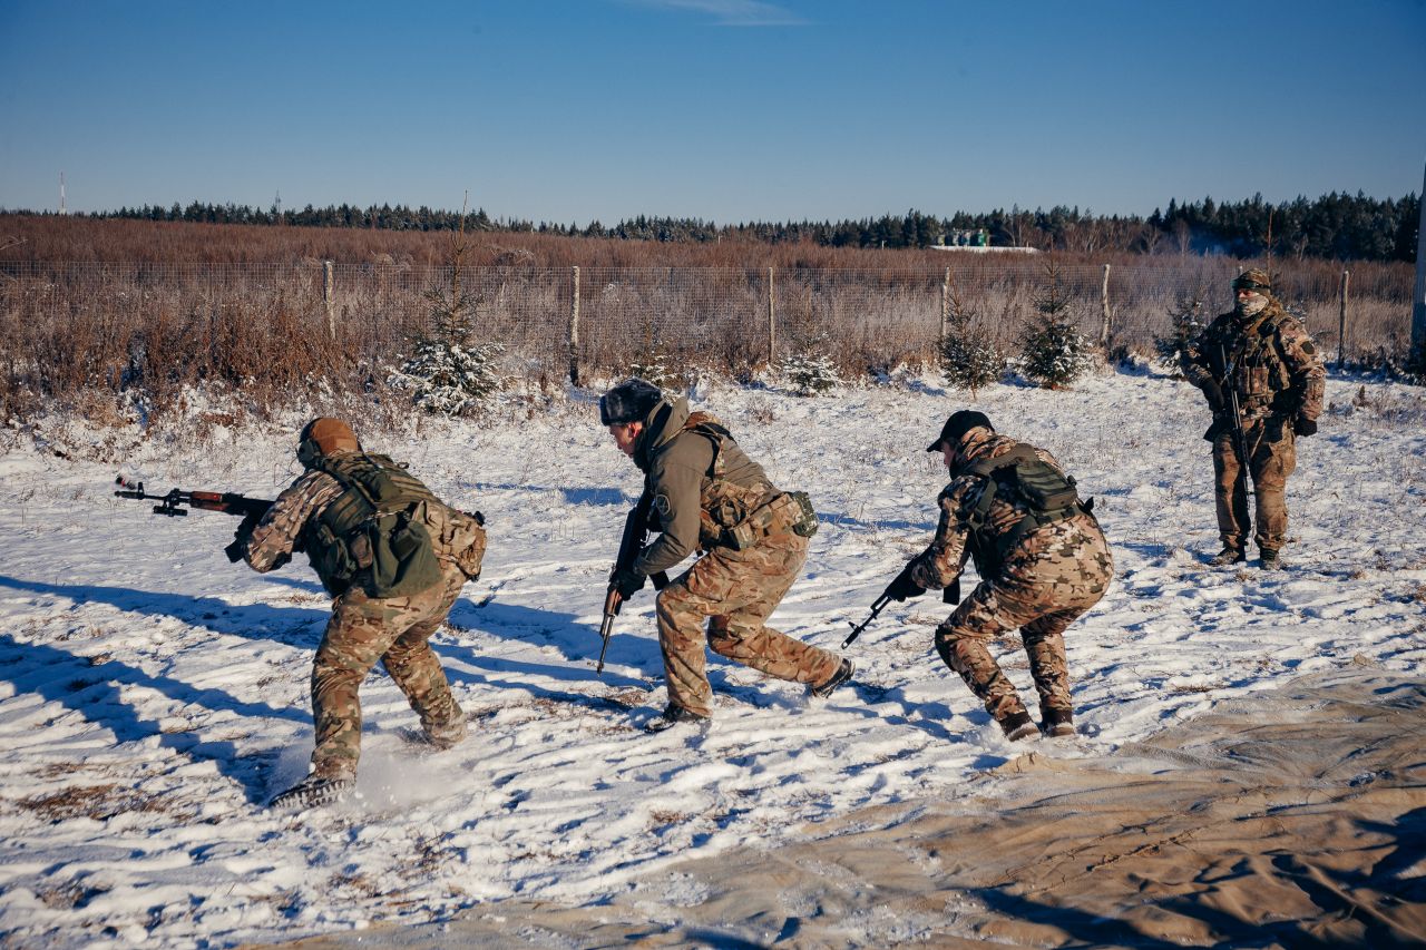
[{"label": "camouflage trousers of the crouching man in black cap", "polygon": [[1109,545],[1091,515],[1040,528],[935,629],[935,650],[1001,720],[1025,706],[988,643],[1018,628],[1041,713],[1071,712],[1064,632],[1099,602],[1112,576]]}]

